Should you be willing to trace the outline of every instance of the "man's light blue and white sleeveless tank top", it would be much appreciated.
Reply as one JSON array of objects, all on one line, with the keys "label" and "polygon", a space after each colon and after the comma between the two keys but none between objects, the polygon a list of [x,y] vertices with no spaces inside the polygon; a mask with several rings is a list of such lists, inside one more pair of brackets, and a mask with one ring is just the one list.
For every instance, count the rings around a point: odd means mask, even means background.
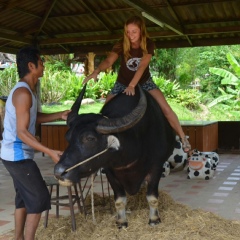
[{"label": "man's light blue and white sleeveless tank top", "polygon": [[37,118],[37,99],[32,90],[25,82],[18,82],[11,90],[5,105],[4,131],[1,144],[1,158],[7,161],[20,161],[25,159],[33,159],[34,149],[26,145],[17,136],[16,129],[16,111],[12,104],[12,95],[17,88],[25,87],[32,94],[32,107],[30,108],[30,123],[28,131],[35,136],[36,118]]}]

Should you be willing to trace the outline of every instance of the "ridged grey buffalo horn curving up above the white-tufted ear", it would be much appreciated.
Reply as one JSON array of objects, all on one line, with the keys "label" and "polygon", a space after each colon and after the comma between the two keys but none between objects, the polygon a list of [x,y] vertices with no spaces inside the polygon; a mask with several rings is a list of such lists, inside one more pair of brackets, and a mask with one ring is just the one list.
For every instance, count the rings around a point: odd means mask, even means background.
[{"label": "ridged grey buffalo horn curving up above the white-tufted ear", "polygon": [[133,111],[122,118],[101,119],[98,123],[98,126],[96,127],[96,130],[98,132],[103,134],[109,134],[126,131],[141,120],[147,108],[147,100],[141,87],[138,87],[140,91],[139,102],[138,105],[133,109]]}]

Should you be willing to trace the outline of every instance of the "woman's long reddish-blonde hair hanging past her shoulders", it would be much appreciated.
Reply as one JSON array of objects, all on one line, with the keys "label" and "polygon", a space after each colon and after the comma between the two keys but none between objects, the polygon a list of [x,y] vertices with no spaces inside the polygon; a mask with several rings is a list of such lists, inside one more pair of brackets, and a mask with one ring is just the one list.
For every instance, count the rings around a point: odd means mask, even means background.
[{"label": "woman's long reddish-blonde hair hanging past her shoulders", "polygon": [[124,24],[124,36],[123,36],[123,54],[124,59],[127,62],[127,60],[131,57],[130,54],[130,41],[127,36],[127,26],[129,24],[135,24],[140,29],[140,47],[143,50],[143,55],[147,54],[147,29],[144,20],[139,16],[132,16],[130,17]]}]

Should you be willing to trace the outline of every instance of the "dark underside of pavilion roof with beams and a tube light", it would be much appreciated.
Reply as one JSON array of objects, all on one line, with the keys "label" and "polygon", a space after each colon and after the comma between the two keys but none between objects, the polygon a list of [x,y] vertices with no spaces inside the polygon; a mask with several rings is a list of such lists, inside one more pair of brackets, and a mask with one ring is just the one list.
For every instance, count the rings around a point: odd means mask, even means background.
[{"label": "dark underside of pavilion roof with beams and a tube light", "polygon": [[0,52],[105,54],[132,15],[144,15],[158,48],[239,44],[239,9],[239,0],[2,0]]}]

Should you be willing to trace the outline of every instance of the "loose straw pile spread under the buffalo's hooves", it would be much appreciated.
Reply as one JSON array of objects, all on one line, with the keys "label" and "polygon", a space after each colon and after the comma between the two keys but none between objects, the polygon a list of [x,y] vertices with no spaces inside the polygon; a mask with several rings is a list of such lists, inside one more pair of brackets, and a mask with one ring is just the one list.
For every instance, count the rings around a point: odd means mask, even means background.
[{"label": "loose straw pile spread under the buffalo's hooves", "polygon": [[[96,204],[102,198],[95,195]],[[90,199],[88,199],[90,203]],[[112,200],[113,211],[114,204]],[[47,229],[43,222],[37,230],[37,240],[239,240],[240,221],[223,219],[213,213],[202,210],[191,210],[189,207],[178,204],[165,192],[160,192],[159,211],[162,223],[150,227],[148,225],[149,208],[143,189],[135,196],[128,196],[127,217],[129,227],[117,229],[115,216],[110,214],[109,208],[95,207],[97,224],[93,223],[91,209],[85,219],[84,215],[77,214],[77,230],[71,231],[70,217],[50,218]]]}]

